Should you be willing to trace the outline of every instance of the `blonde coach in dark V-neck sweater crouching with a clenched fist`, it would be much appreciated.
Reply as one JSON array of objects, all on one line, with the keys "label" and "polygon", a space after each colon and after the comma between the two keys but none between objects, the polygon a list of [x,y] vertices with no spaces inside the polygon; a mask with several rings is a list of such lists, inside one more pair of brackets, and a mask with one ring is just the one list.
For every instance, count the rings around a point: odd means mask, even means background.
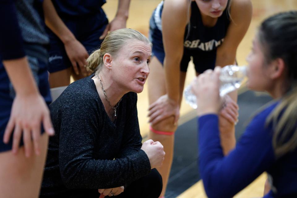
[{"label": "blonde coach in dark V-neck sweater crouching with a clenched fist", "polygon": [[56,136],[49,140],[41,197],[160,195],[154,168],[165,153],[160,142],[141,144],[136,108],[151,50],[136,30],[110,32],[87,59],[94,73],[50,105]]}]

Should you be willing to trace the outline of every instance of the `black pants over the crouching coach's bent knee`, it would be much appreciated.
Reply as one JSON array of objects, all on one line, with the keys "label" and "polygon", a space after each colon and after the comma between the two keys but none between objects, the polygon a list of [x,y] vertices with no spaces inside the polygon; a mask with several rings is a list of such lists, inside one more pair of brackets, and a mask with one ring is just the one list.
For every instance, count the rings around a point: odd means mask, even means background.
[{"label": "black pants over the crouching coach's bent knee", "polygon": [[[151,172],[132,182],[121,194],[114,198],[158,198],[162,191],[162,177],[157,169],[152,169]],[[109,196],[105,196],[107,198]]]}]

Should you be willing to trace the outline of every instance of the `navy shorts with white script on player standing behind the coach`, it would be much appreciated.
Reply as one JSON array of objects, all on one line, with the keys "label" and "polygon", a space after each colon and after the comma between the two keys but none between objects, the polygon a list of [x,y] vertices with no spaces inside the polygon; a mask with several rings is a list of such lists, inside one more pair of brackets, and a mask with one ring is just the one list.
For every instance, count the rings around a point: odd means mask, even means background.
[{"label": "navy shorts with white script on player standing behind the coach", "polygon": [[[100,48],[103,40],[100,40],[99,37],[108,24],[108,19],[102,9],[96,15],[62,18],[62,20],[75,38],[84,45],[89,54]],[[62,41],[49,28],[46,28],[46,31],[50,39],[49,72],[52,73],[72,67]]]}]

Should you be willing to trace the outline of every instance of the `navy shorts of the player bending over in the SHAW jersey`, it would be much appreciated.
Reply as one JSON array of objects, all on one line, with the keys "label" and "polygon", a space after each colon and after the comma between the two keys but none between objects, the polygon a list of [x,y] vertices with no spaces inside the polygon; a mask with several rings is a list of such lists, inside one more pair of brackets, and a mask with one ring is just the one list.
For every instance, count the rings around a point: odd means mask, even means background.
[{"label": "navy shorts of the player bending over in the SHAW jersey", "polygon": [[[152,56],[164,63],[165,52],[162,40],[161,15],[163,10],[163,1],[153,11],[149,21],[149,40],[153,43]],[[187,71],[188,64],[193,59],[197,73],[203,73],[205,70],[214,69],[217,51],[202,51],[200,49],[183,49],[183,57],[180,62],[180,71]]]}]

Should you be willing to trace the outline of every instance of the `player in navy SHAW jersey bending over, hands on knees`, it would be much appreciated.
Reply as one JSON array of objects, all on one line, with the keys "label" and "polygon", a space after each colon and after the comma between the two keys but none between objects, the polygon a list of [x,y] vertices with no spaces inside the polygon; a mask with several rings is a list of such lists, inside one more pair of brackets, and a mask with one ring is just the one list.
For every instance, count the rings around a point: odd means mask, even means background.
[{"label": "player in navy SHAW jersey bending over, hands on knees", "polygon": [[[165,193],[173,157],[174,131],[179,119],[184,82],[190,59],[196,75],[215,66],[235,64],[236,50],[252,18],[250,0],[166,0],[153,12],[153,43],[149,80],[150,138],[164,145],[166,157],[159,168]],[[236,102],[236,93],[230,94]],[[224,153],[235,145],[234,127],[221,117]],[[228,131],[228,132],[227,132]],[[233,130],[234,132],[234,130]],[[229,138],[233,136],[233,139]]]}]

